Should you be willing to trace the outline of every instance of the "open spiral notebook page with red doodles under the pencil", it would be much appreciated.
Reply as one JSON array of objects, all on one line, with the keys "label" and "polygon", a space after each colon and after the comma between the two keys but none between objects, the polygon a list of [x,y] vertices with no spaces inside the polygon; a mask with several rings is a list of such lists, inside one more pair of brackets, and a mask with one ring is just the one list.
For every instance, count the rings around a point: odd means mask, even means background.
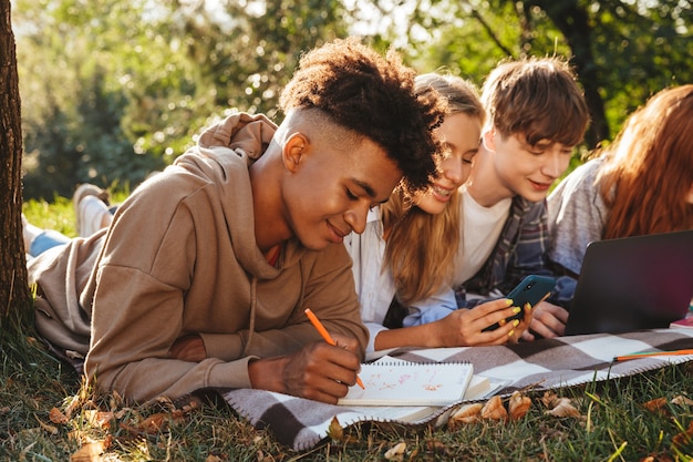
[{"label": "open spiral notebook page with red doodles under the pencil", "polygon": [[358,384],[340,405],[448,405],[463,399],[474,368],[468,362],[376,361],[361,366]]}]

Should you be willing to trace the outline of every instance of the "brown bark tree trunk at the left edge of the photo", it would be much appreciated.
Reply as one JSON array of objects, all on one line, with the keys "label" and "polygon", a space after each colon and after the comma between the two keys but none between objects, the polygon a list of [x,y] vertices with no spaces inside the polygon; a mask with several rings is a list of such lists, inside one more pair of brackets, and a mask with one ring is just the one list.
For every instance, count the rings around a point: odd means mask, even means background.
[{"label": "brown bark tree trunk at the left edge of the photo", "polygon": [[0,328],[31,302],[22,239],[22,129],[10,0],[0,0]]}]

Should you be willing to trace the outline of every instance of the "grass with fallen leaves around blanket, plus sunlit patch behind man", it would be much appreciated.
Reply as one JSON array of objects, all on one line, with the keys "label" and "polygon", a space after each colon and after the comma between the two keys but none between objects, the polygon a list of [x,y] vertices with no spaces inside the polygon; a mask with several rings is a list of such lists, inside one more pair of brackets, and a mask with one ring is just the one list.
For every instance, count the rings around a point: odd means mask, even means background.
[{"label": "grass with fallen leaves around blanket, plus sunlit patch behind man", "polygon": [[[39,226],[72,226],[66,199],[55,205],[29,203],[28,217]],[[34,215],[35,214],[35,215]],[[105,442],[103,461],[383,461],[385,452],[405,443],[400,461],[686,461],[693,441],[693,365],[671,366],[631,378],[556,390],[572,399],[581,418],[547,415],[542,393],[529,392],[529,413],[515,422],[483,422],[457,430],[351,428],[344,441],[307,452],[277,443],[224,403],[189,407],[161,401],[125,407],[117,394],[96,396],[80,377],[35,340],[31,312],[17,314],[0,326],[0,460],[69,461],[87,441]],[[665,398],[661,410],[643,404]],[[51,421],[51,409],[65,423]],[[94,423],[95,410],[113,412],[107,425]],[[108,414],[110,415],[110,414]],[[163,422],[156,430],[147,418]],[[147,431],[148,430],[148,431]],[[693,431],[692,431],[693,433]],[[679,443],[674,446],[674,439]],[[345,442],[346,441],[346,442]],[[651,458],[651,459],[647,459]],[[90,460],[90,459],[85,459]]]}]

